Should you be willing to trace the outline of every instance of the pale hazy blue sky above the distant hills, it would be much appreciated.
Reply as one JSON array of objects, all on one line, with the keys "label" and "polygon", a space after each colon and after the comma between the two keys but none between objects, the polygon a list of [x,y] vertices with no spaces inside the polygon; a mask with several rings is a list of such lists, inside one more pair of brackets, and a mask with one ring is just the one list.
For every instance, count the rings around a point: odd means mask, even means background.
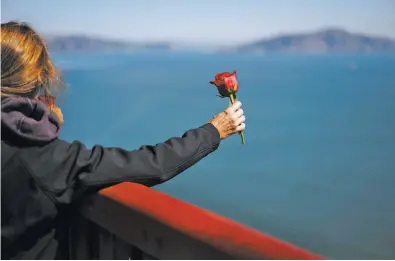
[{"label": "pale hazy blue sky above the distant hills", "polygon": [[234,44],[323,27],[395,38],[395,0],[1,0],[47,34]]}]

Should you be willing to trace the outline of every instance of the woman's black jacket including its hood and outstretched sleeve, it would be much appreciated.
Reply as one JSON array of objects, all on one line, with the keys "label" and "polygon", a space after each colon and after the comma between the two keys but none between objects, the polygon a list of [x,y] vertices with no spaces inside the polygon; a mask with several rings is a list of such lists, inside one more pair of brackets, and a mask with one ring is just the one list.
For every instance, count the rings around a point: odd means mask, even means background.
[{"label": "woman's black jacket including its hood and outstretched sleeve", "polygon": [[88,193],[131,181],[167,181],[215,151],[211,124],[155,146],[128,151],[58,139],[60,126],[44,103],[2,100],[2,259],[68,258],[65,243],[70,204]]}]

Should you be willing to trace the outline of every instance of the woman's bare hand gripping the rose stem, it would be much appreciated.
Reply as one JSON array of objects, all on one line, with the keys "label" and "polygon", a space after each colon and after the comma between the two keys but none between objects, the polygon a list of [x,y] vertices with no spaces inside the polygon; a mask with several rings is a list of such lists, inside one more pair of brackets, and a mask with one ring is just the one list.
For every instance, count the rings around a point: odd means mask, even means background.
[{"label": "woman's bare hand gripping the rose stem", "polygon": [[217,128],[221,139],[226,139],[232,134],[243,131],[245,129],[245,120],[241,102],[236,101],[225,111],[214,116],[209,123]]}]

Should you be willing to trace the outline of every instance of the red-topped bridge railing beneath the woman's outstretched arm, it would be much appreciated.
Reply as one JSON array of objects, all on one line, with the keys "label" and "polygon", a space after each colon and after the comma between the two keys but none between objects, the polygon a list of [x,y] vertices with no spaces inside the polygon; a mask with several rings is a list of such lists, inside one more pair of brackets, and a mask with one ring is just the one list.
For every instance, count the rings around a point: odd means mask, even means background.
[{"label": "red-topped bridge railing beneath the woman's outstretched arm", "polygon": [[71,258],[323,259],[139,184],[104,189],[81,210]]}]

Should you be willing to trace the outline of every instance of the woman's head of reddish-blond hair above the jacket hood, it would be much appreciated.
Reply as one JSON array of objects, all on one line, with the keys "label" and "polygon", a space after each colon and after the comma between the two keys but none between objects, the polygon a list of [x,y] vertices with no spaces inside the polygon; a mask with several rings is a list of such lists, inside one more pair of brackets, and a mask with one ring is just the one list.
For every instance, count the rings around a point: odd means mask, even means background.
[{"label": "woman's head of reddish-blond hair above the jacket hood", "polygon": [[62,82],[44,40],[29,25],[1,24],[1,96],[47,96]]}]

